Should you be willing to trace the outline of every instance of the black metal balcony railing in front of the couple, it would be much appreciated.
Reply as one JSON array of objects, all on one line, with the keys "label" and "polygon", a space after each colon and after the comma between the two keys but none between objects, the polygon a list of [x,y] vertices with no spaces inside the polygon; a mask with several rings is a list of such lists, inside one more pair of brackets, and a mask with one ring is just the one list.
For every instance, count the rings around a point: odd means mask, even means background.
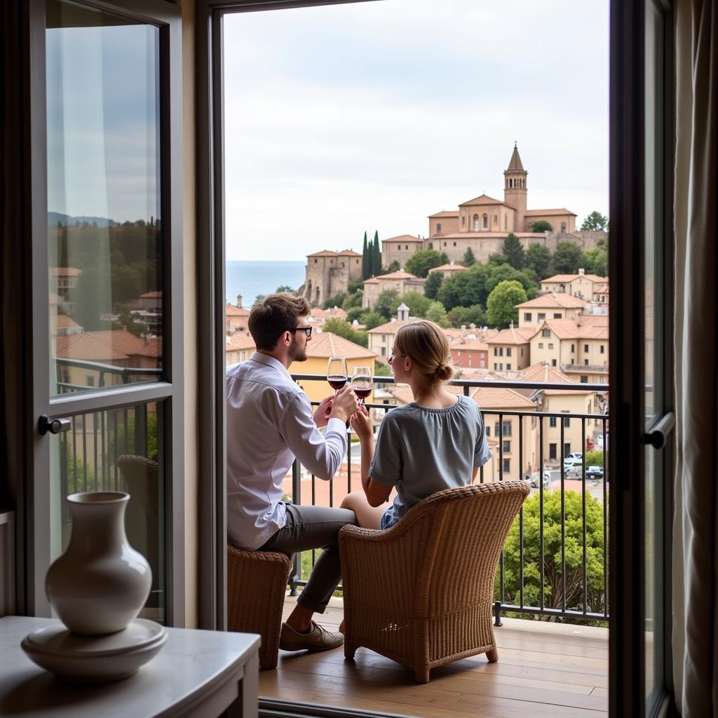
[{"label": "black metal balcony railing in front of the couple", "polygon": [[[326,382],[325,377],[313,374],[294,374],[298,382]],[[391,377],[375,377],[375,385],[393,383]],[[545,389],[576,389],[582,392],[607,393],[605,384],[536,383],[521,381],[452,381],[466,396],[477,387],[530,390],[536,397]],[[317,402],[313,402],[316,404]],[[367,404],[371,409],[391,411],[396,404]],[[500,625],[500,613],[505,611],[562,617],[565,619],[602,621],[609,620],[608,597],[608,481],[606,451],[608,446],[609,414],[576,413],[565,411],[513,411],[482,409],[484,423],[490,438],[498,440],[494,460],[498,465],[491,470],[481,467],[478,482],[503,481],[508,478],[533,480],[536,490],[526,500],[509,533],[501,553],[495,580],[495,625]],[[580,422],[580,449],[584,461],[578,470],[564,465],[567,434],[573,422]],[[518,431],[514,428],[518,424]],[[547,426],[548,424],[548,426]],[[498,436],[495,429],[498,427]],[[549,442],[547,432],[554,429],[555,442]],[[526,432],[530,432],[528,437]],[[513,441],[518,438],[518,451]],[[526,440],[528,439],[528,441]],[[602,476],[587,476],[587,440],[595,441],[602,452]],[[512,442],[510,449],[505,444]],[[554,444],[551,446],[550,444]],[[508,450],[507,450],[508,449]],[[549,455],[546,456],[546,449]],[[335,486],[345,486],[346,493],[360,488],[352,480],[353,452],[358,462],[358,446],[348,442],[346,476],[329,481],[328,505],[335,505]],[[532,452],[536,463],[534,472],[527,472],[526,451]],[[509,459],[508,464],[504,460]],[[514,460],[518,460],[518,470]],[[548,475],[549,480],[544,477]],[[323,480],[320,480],[323,482]],[[342,483],[340,483],[342,482]],[[570,484],[568,482],[571,482]],[[307,501],[309,499],[309,501]],[[317,503],[317,479],[311,475],[311,495],[302,495],[302,467],[292,467],[292,500],[294,503]],[[478,529],[477,529],[478,530]],[[312,551],[314,565],[316,552]],[[293,594],[297,587],[306,584],[302,575],[302,557],[294,556],[290,583]],[[341,589],[341,587],[340,587]]]}]

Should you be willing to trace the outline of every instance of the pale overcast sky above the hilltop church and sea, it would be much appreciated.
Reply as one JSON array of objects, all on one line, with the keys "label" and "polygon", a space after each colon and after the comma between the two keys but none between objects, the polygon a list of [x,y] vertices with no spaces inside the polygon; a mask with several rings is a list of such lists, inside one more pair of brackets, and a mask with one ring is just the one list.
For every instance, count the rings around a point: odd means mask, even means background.
[{"label": "pale overcast sky above the hilltop church and sea", "polygon": [[608,204],[608,2],[383,0],[225,17],[226,253],[302,259],[426,236],[503,200]]}]

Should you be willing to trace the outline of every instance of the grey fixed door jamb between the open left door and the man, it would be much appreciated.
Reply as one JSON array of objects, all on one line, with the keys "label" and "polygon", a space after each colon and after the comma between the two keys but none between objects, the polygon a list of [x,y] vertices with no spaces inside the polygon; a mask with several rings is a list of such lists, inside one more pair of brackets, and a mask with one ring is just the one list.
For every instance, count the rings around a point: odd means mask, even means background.
[{"label": "grey fixed door jamb between the open left door and the man", "polygon": [[227,627],[223,17],[376,0],[197,0],[199,627]]}]

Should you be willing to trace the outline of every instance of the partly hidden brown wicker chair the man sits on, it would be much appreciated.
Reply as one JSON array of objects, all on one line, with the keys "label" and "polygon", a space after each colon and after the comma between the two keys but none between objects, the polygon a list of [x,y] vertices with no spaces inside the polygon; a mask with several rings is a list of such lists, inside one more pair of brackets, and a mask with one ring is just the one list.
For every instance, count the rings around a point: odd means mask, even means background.
[{"label": "partly hidden brown wicker chair the man sits on", "polygon": [[227,628],[261,635],[261,668],[276,666],[281,610],[291,568],[285,554],[227,546]]}]

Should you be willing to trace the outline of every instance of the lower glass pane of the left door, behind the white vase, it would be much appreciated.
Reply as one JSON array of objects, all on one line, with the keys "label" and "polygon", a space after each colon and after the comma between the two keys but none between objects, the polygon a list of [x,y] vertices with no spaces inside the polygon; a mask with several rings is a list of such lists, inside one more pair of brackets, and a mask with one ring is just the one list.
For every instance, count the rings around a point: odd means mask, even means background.
[{"label": "lower glass pane of the left door, behind the white vase", "polygon": [[127,538],[152,569],[151,593],[140,616],[159,621],[166,609],[162,432],[162,405],[152,403],[73,416],[69,431],[50,438],[50,559],[70,540],[65,496],[126,491]]}]

